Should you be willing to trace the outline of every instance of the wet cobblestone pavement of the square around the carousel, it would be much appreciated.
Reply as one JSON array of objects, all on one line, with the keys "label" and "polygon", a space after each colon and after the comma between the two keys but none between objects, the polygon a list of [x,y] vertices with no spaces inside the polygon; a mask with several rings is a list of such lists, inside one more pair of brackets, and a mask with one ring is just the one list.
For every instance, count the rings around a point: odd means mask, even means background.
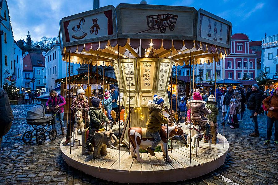
[{"label": "wet cobblestone pavement of the square around the carousel", "polygon": [[[24,118],[33,104],[12,105],[15,118]],[[1,115],[3,116],[3,115]],[[159,183],[160,185],[181,184],[278,184],[278,146],[274,145],[273,134],[270,145],[266,140],[266,115],[259,116],[260,137],[249,137],[253,123],[245,112],[239,129],[225,125],[225,137],[230,144],[225,163],[211,173],[178,183]],[[221,120],[219,115],[218,120]],[[65,122],[66,123],[66,122]],[[59,126],[57,126],[58,128]],[[59,144],[63,136],[58,128],[55,141],[39,146],[35,139],[24,144],[22,134],[31,126],[24,119],[16,119],[9,133],[3,138],[0,159],[0,184],[118,184],[97,179],[68,166],[62,159]],[[223,134],[223,126],[219,125]],[[173,139],[174,145],[183,145],[180,138]],[[11,146],[6,146],[11,144]]]}]

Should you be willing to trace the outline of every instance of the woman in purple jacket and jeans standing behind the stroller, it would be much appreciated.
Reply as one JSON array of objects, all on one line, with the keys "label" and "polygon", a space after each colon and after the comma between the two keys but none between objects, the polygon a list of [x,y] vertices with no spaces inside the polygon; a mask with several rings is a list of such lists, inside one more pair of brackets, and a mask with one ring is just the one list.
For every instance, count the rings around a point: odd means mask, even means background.
[{"label": "woman in purple jacket and jeans standing behind the stroller", "polygon": [[[60,94],[58,94],[54,89],[51,89],[49,92],[50,97],[46,101],[46,109],[49,110],[49,108],[52,109],[58,109],[60,108],[60,111],[57,113],[61,125],[62,135],[65,134],[65,126],[64,126],[64,105],[66,105],[65,98],[62,97]],[[52,129],[56,129],[56,119],[55,123],[52,125]]]}]

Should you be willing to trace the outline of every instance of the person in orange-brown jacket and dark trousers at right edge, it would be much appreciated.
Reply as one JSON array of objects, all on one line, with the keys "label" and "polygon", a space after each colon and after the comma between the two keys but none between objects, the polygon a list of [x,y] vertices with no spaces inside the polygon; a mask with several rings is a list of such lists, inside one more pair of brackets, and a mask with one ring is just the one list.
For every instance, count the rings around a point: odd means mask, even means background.
[{"label": "person in orange-brown jacket and dark trousers at right edge", "polygon": [[276,93],[273,93],[272,96],[268,96],[263,100],[263,105],[267,108],[267,140],[264,144],[267,145],[270,143],[272,135],[272,127],[274,123],[274,143],[278,146],[278,88],[276,88]]}]

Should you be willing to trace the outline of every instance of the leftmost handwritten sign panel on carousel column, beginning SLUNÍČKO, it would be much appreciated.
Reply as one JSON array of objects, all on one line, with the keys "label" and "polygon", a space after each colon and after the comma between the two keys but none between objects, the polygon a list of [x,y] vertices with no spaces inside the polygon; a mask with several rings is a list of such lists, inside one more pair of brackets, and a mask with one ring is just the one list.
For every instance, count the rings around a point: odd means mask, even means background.
[{"label": "leftmost handwritten sign panel on carousel column, beginning SLUN\u00cd\u010cKO", "polygon": [[[124,84],[126,89],[135,90],[135,77],[134,77],[134,64],[133,63],[121,63],[124,74]],[[129,67],[128,67],[129,65]]]}]

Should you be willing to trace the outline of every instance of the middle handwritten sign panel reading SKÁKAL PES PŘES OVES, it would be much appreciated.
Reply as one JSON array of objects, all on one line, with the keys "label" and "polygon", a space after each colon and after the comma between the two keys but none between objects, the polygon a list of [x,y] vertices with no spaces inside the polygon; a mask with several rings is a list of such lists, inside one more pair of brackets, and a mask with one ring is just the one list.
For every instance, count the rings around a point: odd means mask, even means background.
[{"label": "middle handwritten sign panel reading SK\u00c1KAL PES P\u0158ES OVES", "polygon": [[154,83],[154,62],[141,62],[140,72],[142,90],[152,90]]}]

